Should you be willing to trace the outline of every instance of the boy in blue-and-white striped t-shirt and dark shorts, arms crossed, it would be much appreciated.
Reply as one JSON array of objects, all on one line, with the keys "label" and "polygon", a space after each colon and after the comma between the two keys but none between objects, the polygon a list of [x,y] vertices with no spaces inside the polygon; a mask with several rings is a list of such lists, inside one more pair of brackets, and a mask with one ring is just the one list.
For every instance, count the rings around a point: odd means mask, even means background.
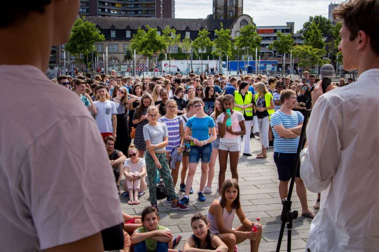
[{"label": "boy in blue-and-white striped t-shirt and dark shorts, arms crossed", "polygon": [[[280,180],[280,199],[287,198],[288,182],[292,176],[300,139],[300,135],[294,131],[302,127],[304,120],[304,116],[300,112],[292,110],[296,102],[296,93],[293,90],[283,90],[280,94],[281,108],[272,114],[270,121],[274,134],[274,161]],[[296,173],[295,183],[296,193],[302,207],[301,215],[313,219],[315,215],[308,208],[307,191],[300,178],[300,170]]]}]

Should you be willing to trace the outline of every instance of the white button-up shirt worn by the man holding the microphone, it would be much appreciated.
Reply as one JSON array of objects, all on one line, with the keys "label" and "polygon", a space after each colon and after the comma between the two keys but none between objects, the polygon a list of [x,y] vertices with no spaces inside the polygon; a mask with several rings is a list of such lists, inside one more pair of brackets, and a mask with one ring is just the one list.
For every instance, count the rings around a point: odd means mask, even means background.
[{"label": "white button-up shirt worn by the man holding the microphone", "polygon": [[300,175],[322,192],[307,249],[379,251],[379,69],[321,96],[307,138]]}]

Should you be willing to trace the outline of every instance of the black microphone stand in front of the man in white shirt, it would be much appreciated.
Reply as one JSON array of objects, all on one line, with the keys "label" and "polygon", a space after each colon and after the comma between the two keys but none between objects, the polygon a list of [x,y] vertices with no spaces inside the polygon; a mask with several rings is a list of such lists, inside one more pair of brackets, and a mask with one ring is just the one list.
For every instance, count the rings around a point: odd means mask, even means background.
[{"label": "black microphone stand in front of the man in white shirt", "polygon": [[300,152],[304,148],[305,140],[307,139],[305,130],[307,128],[308,119],[311,115],[311,110],[312,110],[312,101],[311,101],[311,96],[309,95],[308,100],[305,104],[304,121],[303,121],[303,126],[301,128],[299,145],[297,147],[296,161],[294,163],[294,168],[292,170],[292,177],[291,177],[291,182],[290,182],[290,188],[288,190],[288,196],[287,196],[287,199],[282,200],[283,209],[282,209],[282,214],[280,216],[282,225],[280,227],[280,233],[279,233],[278,244],[276,246],[276,252],[280,251],[280,246],[281,246],[283,234],[284,234],[284,226],[286,223],[287,223],[287,232],[288,232],[287,251],[288,252],[291,251],[292,221],[296,220],[298,216],[297,211],[291,210],[291,205],[292,205],[291,197],[292,197],[293,186],[295,184],[296,173],[300,167]]}]

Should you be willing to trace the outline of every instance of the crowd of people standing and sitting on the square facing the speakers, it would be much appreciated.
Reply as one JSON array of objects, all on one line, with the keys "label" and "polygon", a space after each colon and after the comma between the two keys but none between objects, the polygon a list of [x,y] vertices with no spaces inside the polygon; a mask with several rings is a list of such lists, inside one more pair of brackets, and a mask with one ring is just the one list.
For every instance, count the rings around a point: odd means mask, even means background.
[{"label": "crowd of people standing and sitting on the square facing the speakers", "polygon": [[[295,81],[287,77],[236,78],[204,73],[133,80],[118,76],[116,71],[93,79],[81,74],[76,80],[59,76],[57,83],[72,89],[94,117],[105,142],[118,193],[124,191],[128,204],[138,205],[145,190],[149,190],[151,207],[144,209],[139,221],[124,218],[124,235],[131,236],[125,238],[124,251],[131,244],[135,245],[134,251],[175,251],[182,237],[174,238],[170,230],[158,224],[157,183],[164,183],[166,201],[173,210],[188,210],[200,158],[197,200],[204,202],[204,194],[213,190],[220,196],[209,206],[206,218],[201,214],[192,217],[193,235],[185,250],[232,252],[236,244],[249,239],[251,251],[258,251],[262,228],[258,233],[251,231],[252,223],[239,204],[239,156],[252,156],[252,137],[259,136],[262,147],[257,159],[267,158],[268,148],[273,147],[279,195],[281,199],[287,197],[306,93],[318,82],[308,72],[303,76]],[[341,87],[349,83],[341,79],[332,85]],[[212,188],[217,157],[218,185]],[[228,157],[231,178],[225,178]],[[179,174],[182,198],[175,189]],[[121,184],[122,176],[125,179]],[[313,219],[315,214],[308,207],[300,174],[296,174],[295,182],[301,214]],[[314,208],[318,209],[319,204],[320,196]],[[232,229],[234,214],[241,220],[241,226]]]}]

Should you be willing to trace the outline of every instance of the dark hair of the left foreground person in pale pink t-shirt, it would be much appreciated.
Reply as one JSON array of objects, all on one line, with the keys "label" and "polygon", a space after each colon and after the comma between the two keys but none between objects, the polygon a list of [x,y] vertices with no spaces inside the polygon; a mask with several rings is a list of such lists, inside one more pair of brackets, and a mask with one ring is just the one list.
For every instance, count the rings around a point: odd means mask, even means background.
[{"label": "dark hair of the left foreground person in pale pink t-shirt", "polygon": [[45,6],[51,0],[22,1],[22,4],[15,4],[13,1],[3,1],[3,11],[0,15],[0,28],[8,27],[14,23],[23,21],[31,12],[44,13]]}]

